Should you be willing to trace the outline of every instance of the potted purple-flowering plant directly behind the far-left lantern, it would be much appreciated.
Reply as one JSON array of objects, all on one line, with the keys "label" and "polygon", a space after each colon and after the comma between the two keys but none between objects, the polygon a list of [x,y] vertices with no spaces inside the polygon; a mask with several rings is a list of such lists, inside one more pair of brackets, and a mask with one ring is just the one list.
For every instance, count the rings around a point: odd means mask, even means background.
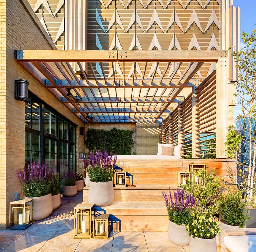
[{"label": "potted purple-flowering plant directly behind the far-left lantern", "polygon": [[33,221],[42,220],[53,211],[51,181],[54,175],[54,171],[39,163],[29,164],[27,169],[17,171],[25,198],[33,200]]}]

